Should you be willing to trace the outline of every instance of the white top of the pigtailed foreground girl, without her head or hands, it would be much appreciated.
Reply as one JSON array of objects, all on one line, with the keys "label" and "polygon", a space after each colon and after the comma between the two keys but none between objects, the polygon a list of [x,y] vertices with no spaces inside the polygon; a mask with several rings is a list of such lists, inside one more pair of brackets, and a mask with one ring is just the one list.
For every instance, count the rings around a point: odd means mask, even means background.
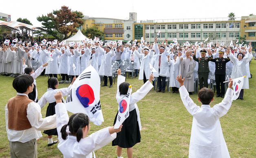
[{"label": "white top of the pigtailed foreground girl, without her head or hands", "polygon": [[[57,103],[55,105],[56,120],[57,120],[57,132],[58,149],[62,152],[64,158],[93,158],[93,151],[108,145],[112,140],[117,137],[116,133],[110,135],[108,128],[101,129],[93,134],[90,134],[86,138],[82,138],[77,142],[76,136],[68,135],[64,140],[60,132],[61,128],[68,124],[68,112],[64,103]],[[68,127],[66,132],[70,134]]]}]

